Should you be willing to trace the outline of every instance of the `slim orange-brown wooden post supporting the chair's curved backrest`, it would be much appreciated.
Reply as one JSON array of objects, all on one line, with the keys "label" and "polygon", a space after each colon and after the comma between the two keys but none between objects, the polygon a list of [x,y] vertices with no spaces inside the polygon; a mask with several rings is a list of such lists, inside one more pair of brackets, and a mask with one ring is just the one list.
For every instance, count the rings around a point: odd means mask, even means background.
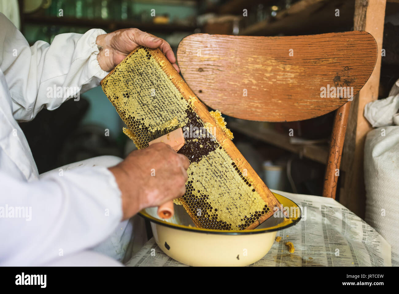
[{"label": "slim orange-brown wooden post supporting the chair's curved backrest", "polygon": [[324,176],[323,196],[335,199],[340,172],[342,148],[344,147],[346,125],[351,102],[346,102],[336,110],[331,134],[330,151]]}]

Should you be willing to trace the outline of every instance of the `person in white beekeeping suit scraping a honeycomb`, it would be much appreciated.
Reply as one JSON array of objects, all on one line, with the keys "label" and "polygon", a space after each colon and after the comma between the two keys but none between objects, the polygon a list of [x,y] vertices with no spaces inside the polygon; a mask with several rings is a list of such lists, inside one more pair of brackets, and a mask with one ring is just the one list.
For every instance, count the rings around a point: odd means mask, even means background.
[{"label": "person in white beekeeping suit scraping a honeycomb", "polygon": [[184,194],[189,161],[164,143],[39,176],[18,126],[76,94],[49,88],[96,87],[137,46],[160,47],[178,70],[170,45],[138,29],[60,34],[30,47],[0,13],[0,265],[117,265],[128,219]]}]

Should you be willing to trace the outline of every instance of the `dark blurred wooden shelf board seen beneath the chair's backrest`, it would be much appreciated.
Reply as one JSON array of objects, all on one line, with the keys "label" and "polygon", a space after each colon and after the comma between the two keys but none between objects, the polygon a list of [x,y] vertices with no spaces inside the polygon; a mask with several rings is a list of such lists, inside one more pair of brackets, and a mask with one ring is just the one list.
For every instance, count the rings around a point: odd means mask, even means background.
[{"label": "dark blurred wooden shelf board seen beneath the chair's backrest", "polygon": [[229,121],[227,127],[234,131],[239,131],[252,138],[275,145],[287,151],[303,155],[306,158],[316,162],[326,164],[328,158],[328,145],[311,145],[311,144],[291,144],[290,137],[278,133],[273,129],[257,130],[253,123],[247,121]]}]

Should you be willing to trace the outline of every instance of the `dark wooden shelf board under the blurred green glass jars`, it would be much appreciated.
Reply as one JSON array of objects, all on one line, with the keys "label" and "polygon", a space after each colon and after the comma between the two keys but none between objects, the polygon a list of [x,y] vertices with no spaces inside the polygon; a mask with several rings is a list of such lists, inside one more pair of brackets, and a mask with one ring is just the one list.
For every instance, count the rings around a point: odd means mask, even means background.
[{"label": "dark wooden shelf board under the blurred green glass jars", "polygon": [[47,24],[54,26],[78,26],[89,28],[103,28],[105,30],[119,30],[122,28],[138,28],[150,32],[194,32],[197,26],[185,26],[181,24],[153,24],[131,21],[114,21],[102,19],[55,17],[55,16],[30,16],[24,15],[24,23]]}]

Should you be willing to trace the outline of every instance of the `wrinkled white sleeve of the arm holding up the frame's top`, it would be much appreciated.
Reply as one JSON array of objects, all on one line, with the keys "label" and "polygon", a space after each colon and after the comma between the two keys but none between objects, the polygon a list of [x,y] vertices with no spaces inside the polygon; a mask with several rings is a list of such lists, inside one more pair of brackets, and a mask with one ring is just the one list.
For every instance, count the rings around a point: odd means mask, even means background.
[{"label": "wrinkled white sleeve of the arm holding up the frame's top", "polygon": [[79,99],[108,73],[97,62],[97,36],[104,30],[85,34],[59,34],[51,45],[38,41],[32,47],[19,30],[0,13],[0,69],[12,97],[18,121],[30,121],[46,107],[53,110],[68,98]]}]

